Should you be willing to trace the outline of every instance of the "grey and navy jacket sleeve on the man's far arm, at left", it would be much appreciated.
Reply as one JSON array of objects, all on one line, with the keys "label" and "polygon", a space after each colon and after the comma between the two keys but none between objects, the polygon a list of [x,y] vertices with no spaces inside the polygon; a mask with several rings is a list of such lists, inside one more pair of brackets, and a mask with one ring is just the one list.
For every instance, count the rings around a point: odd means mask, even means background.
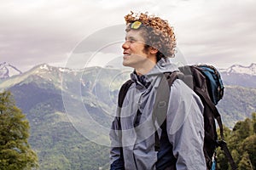
[{"label": "grey and navy jacket sleeve on the man's far arm, at left", "polygon": [[110,149],[110,170],[125,169],[123,150],[121,147],[121,128],[119,127],[119,117],[115,117],[109,133],[111,141]]}]

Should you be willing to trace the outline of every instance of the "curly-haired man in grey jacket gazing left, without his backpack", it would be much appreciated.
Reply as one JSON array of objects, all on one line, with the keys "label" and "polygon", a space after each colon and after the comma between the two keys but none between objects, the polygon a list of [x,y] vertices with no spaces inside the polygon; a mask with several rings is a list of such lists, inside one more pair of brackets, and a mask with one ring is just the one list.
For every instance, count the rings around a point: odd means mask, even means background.
[{"label": "curly-haired man in grey jacket gazing left, without his backpack", "polygon": [[[172,27],[148,14],[131,12],[125,21],[123,65],[134,71],[110,132],[111,170],[206,170],[201,99],[179,79],[171,89],[160,89],[163,73],[177,71],[168,60],[176,47]],[[158,123],[160,111],[154,108],[160,91],[169,94]]]}]

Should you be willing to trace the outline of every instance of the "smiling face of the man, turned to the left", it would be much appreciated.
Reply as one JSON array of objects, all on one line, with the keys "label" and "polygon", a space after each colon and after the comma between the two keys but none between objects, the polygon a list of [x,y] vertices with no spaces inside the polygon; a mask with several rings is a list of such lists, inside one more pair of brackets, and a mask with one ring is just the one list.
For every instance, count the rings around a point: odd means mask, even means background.
[{"label": "smiling face of the man, turned to the left", "polygon": [[139,68],[148,62],[148,54],[144,50],[144,39],[140,31],[131,30],[126,33],[125,43],[122,45],[124,49],[123,65],[132,68]]}]

